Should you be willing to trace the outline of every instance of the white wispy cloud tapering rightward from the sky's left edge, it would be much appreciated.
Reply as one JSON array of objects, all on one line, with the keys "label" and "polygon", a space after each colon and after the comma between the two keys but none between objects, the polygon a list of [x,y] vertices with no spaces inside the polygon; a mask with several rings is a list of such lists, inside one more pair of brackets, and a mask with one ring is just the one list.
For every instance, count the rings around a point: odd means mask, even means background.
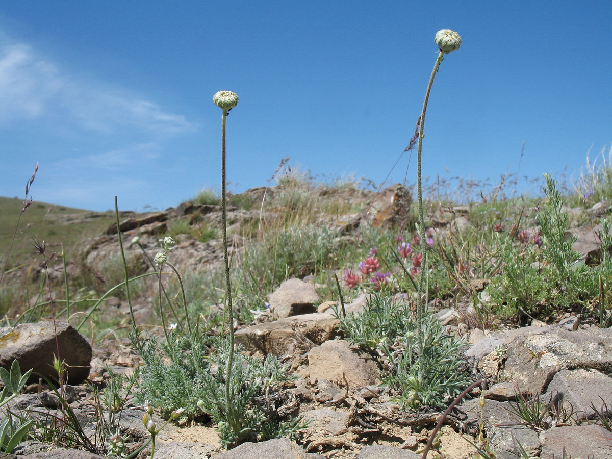
[{"label": "white wispy cloud tapering rightward from the sky's left edge", "polygon": [[99,132],[138,129],[171,135],[195,129],[181,114],[125,89],[69,75],[26,43],[0,39],[0,122],[61,116]]}]

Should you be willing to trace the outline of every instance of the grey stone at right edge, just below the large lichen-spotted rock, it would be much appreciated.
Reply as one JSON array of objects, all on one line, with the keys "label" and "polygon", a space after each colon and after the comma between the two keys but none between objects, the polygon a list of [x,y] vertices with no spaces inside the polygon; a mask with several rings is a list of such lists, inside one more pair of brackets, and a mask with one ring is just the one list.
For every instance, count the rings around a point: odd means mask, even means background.
[{"label": "grey stone at right edge, just below the large lichen-spotted rock", "polygon": [[612,378],[597,370],[561,370],[548,384],[547,394],[556,403],[571,405],[580,419],[595,418],[593,406],[605,416],[612,415]]}]

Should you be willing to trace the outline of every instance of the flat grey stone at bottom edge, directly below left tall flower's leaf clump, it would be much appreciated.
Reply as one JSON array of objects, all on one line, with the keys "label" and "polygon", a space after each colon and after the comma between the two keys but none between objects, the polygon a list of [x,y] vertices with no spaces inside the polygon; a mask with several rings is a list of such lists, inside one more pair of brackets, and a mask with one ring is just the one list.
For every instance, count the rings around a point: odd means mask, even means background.
[{"label": "flat grey stone at bottom edge, directly below left tall flower's leaf clump", "polygon": [[274,438],[259,443],[243,443],[219,453],[215,459],[325,459],[319,454],[306,453],[288,438]]}]

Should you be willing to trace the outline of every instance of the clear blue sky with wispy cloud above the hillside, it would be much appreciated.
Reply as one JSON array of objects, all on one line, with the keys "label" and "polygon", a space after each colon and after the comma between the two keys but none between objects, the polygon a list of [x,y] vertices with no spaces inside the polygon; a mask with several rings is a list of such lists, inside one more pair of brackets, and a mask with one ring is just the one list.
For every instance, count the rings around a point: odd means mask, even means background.
[{"label": "clear blue sky with wispy cloud above the hillside", "polygon": [[[612,142],[612,2],[0,3],[0,195],[105,211],[220,189],[220,90],[234,192],[283,157],[321,179],[416,177],[408,145],[436,59],[424,175],[580,173]],[[521,158],[521,147],[524,155]],[[520,162],[520,166],[519,166]],[[519,187],[527,185],[521,178]]]}]

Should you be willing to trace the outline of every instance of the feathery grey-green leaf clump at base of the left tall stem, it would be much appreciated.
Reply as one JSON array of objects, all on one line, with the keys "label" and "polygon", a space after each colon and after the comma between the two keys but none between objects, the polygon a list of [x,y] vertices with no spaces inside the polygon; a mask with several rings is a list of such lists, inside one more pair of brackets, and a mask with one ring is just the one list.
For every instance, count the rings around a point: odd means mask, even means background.
[{"label": "feathery grey-green leaf clump at base of the left tall stem", "polygon": [[184,408],[181,416],[187,420],[210,416],[224,447],[295,435],[302,425],[299,419],[287,414],[274,416],[265,403],[256,401],[278,392],[291,379],[272,356],[259,360],[236,353],[230,379],[234,381],[230,387],[232,401],[226,402],[222,369],[229,357],[228,345],[223,337],[201,331],[187,337],[173,330],[170,341],[147,340],[138,348],[145,366],[140,381],[143,390],[136,397],[159,407],[165,417],[179,408]]}]

